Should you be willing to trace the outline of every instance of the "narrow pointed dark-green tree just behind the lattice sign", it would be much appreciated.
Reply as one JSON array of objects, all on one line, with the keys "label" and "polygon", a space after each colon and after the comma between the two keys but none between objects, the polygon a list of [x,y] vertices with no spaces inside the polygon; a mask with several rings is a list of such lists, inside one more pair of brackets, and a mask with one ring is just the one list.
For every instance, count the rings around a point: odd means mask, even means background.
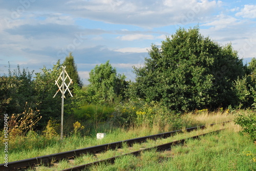
[{"label": "narrow pointed dark-green tree just behind the lattice sign", "polygon": [[70,78],[73,80],[74,84],[77,84],[80,88],[82,88],[82,81],[80,80],[80,77],[78,75],[77,66],[75,64],[72,53],[70,53],[69,56],[66,57],[63,65],[66,66],[66,71],[68,72]]}]

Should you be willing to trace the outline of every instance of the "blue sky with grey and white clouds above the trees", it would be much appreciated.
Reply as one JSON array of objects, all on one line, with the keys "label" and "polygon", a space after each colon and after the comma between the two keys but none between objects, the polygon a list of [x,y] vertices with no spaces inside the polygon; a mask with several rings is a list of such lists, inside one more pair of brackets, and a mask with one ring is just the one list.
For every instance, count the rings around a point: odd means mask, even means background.
[{"label": "blue sky with grey and white clouds above the trees", "polygon": [[0,75],[8,61],[39,72],[72,52],[85,84],[107,60],[133,80],[152,43],[196,25],[244,61],[256,57],[255,0],[0,0],[0,16]]}]

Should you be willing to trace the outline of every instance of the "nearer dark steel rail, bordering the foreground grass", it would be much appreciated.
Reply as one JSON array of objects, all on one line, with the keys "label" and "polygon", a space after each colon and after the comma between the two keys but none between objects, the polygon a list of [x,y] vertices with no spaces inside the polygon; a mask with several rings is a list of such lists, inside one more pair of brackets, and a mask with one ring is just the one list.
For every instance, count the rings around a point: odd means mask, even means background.
[{"label": "nearer dark steel rail, bordering the foreground grass", "polygon": [[220,130],[217,130],[217,131],[212,131],[212,132],[196,135],[196,136],[193,136],[193,137],[184,138],[184,139],[181,139],[181,140],[168,142],[168,143],[161,144],[161,145],[156,145],[156,146],[153,146],[151,148],[142,149],[142,150],[131,152],[131,153],[126,153],[126,154],[122,154],[122,155],[119,155],[119,156],[114,156],[114,157],[103,159],[103,160],[98,160],[98,161],[95,161],[95,162],[91,162],[91,163],[87,163],[87,164],[83,164],[83,165],[63,169],[61,171],[71,171],[71,170],[72,171],[80,171],[82,169],[89,168],[93,165],[98,165],[100,163],[111,163],[111,164],[113,164],[115,162],[115,159],[120,158],[120,157],[125,156],[125,155],[138,156],[141,152],[149,151],[149,150],[152,150],[152,149],[156,149],[157,151],[164,151],[164,150],[167,150],[167,149],[171,149],[172,146],[174,146],[174,145],[184,144],[187,139],[196,139],[196,138],[199,138],[201,136],[204,136],[204,135],[207,135],[207,134],[210,134],[210,133],[220,132],[222,130],[224,130],[224,129],[220,129]]}]

